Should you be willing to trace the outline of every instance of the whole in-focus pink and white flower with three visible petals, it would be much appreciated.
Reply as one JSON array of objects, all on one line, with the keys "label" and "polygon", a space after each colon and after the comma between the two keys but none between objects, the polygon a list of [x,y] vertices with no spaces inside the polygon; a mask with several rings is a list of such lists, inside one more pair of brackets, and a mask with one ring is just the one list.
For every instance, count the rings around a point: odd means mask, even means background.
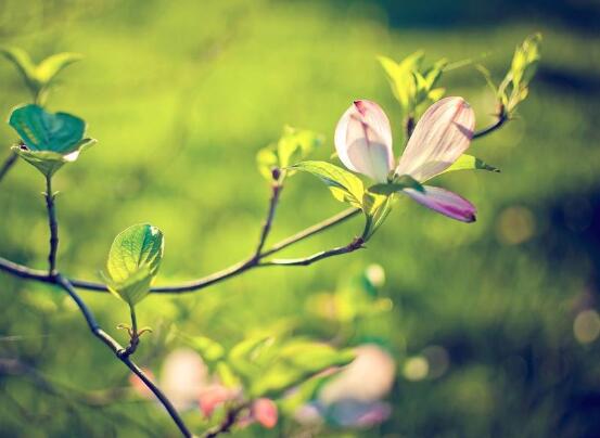
[{"label": "whole in-focus pink and white flower with three visible petals", "polygon": [[[355,101],[335,128],[335,150],[344,166],[380,183],[408,175],[423,183],[450,167],[473,138],[475,114],[462,98],[445,98],[423,114],[396,166],[390,119],[374,102]],[[393,172],[393,173],[392,173]],[[475,220],[475,207],[447,190],[424,185],[403,192],[435,211],[463,222]]]}]

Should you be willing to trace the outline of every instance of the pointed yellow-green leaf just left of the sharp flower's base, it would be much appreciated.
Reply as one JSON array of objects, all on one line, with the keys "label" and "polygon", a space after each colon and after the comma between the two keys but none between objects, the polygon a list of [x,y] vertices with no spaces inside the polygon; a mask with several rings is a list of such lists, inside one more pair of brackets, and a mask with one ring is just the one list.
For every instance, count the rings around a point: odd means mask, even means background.
[{"label": "pointed yellow-green leaf just left of the sharp flower's base", "polygon": [[292,166],[291,169],[318,177],[329,186],[337,201],[361,208],[365,188],[362,181],[349,171],[327,162],[302,162]]}]

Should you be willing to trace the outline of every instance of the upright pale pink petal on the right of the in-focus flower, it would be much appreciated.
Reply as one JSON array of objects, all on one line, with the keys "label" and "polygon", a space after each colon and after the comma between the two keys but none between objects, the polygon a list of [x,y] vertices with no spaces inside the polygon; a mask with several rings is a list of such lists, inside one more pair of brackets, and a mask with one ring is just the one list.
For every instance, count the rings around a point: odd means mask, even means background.
[{"label": "upright pale pink petal on the right of the in-focus flower", "polygon": [[462,98],[446,98],[431,105],[408,141],[397,175],[420,182],[441,173],[469,147],[475,113]]}]

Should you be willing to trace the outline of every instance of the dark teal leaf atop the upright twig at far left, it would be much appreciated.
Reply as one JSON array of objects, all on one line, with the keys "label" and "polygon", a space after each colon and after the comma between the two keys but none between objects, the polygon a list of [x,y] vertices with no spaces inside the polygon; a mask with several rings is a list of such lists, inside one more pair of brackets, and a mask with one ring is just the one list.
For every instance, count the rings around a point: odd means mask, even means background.
[{"label": "dark teal leaf atop the upright twig at far left", "polygon": [[51,114],[41,106],[29,104],[17,107],[9,124],[31,151],[73,152],[84,138],[86,123],[66,113]]}]

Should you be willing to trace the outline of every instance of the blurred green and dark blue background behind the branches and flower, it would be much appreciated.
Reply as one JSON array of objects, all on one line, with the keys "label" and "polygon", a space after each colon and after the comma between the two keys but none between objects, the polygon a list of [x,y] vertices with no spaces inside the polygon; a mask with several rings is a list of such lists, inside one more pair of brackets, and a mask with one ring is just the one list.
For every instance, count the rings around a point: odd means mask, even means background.
[{"label": "blurred green and dark blue background behind the branches and flower", "polygon": [[[164,284],[251,253],[269,195],[255,154],[284,124],[322,132],[317,156],[327,159],[341,114],[353,99],[371,99],[390,115],[400,152],[401,113],[376,55],[398,60],[423,49],[431,61],[473,59],[499,80],[515,44],[541,31],[542,61],[520,118],[471,149],[502,172],[441,180],[477,206],[477,222],[403,202],[367,250],[253,271],[177,298],[151,296],[139,319],[155,333],[137,356],[157,372],[181,344],[165,334],[171,323],[226,345],[282,320],[327,338],[335,324],[311,313],[310,296],[379,263],[386,273],[379,294],[393,308],[353,321],[345,345],[375,342],[393,355],[391,416],[371,428],[305,435],[284,418],[275,430],[240,436],[592,437],[600,430],[599,18],[595,0],[2,0],[0,42],[36,60],[85,55],[61,74],[48,105],[84,117],[99,139],[55,178],[61,270],[97,279],[113,237],[151,222],[166,236]],[[0,85],[8,117],[29,96],[7,62]],[[442,86],[475,107],[478,127],[493,121],[494,96],[475,68],[446,73]],[[13,141],[1,125],[2,155]],[[2,257],[46,266],[42,190],[23,162],[2,181]],[[318,181],[295,176],[270,242],[342,208]],[[285,255],[346,244],[360,231],[353,219]],[[127,321],[126,306],[110,295],[82,296],[125,340],[114,326]],[[0,375],[1,436],[176,436],[152,402],[117,397],[128,386],[126,370],[61,291],[0,274],[0,300],[1,358],[35,370]],[[432,346],[448,359],[436,373]],[[36,373],[71,389],[53,394]],[[85,405],[74,402],[79,391],[116,401]],[[199,416],[186,413],[192,425]]]}]

